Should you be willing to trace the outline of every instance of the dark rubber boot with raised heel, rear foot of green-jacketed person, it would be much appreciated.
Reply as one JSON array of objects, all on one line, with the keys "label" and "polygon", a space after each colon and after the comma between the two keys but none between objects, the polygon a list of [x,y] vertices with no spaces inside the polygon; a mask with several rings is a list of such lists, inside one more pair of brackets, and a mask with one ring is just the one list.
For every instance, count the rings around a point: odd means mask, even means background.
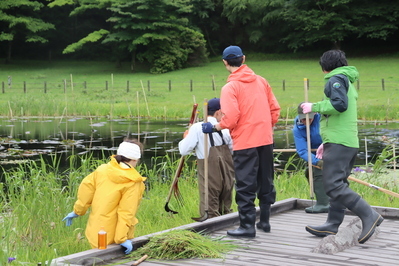
[{"label": "dark rubber boot with raised heel, rear foot of green-jacketed person", "polygon": [[384,221],[384,218],[362,198],[359,198],[350,210],[362,220],[362,232],[358,241],[363,244],[374,234],[375,228]]}]

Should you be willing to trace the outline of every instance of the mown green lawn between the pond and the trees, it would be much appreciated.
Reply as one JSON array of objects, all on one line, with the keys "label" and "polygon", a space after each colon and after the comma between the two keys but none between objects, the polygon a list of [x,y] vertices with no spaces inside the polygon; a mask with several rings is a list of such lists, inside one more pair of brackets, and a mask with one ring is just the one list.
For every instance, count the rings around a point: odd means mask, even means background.
[{"label": "mown green lawn between the pond and the trees", "polygon": [[[397,57],[348,59],[349,64],[360,72],[359,119],[397,120],[399,103],[393,101],[399,90]],[[296,115],[296,107],[305,97],[304,78],[309,79],[309,101],[321,100],[323,96],[323,73],[318,56],[274,59],[254,54],[248,55],[247,63],[273,87],[281,105],[282,118],[292,119]],[[0,82],[5,84],[5,93],[0,98],[1,116],[166,116],[171,119],[189,117],[194,101],[201,103],[204,98],[219,97],[229,74],[219,59],[202,67],[159,75],[140,71],[131,73],[127,64],[116,68],[109,62],[34,61],[0,65],[0,73]],[[8,76],[12,76],[11,89],[7,85]],[[47,93],[44,93],[44,82],[47,83]]]}]

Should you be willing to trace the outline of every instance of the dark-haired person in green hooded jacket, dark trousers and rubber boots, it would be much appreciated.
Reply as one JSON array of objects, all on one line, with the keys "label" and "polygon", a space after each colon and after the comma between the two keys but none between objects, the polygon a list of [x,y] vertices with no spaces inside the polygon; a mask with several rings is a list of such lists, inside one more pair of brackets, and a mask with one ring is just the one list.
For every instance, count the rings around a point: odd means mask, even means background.
[{"label": "dark-haired person in green hooded jacket, dark trousers and rubber boots", "polygon": [[348,66],[345,53],[330,50],[320,58],[325,73],[324,100],[303,103],[303,113],[322,114],[320,134],[323,143],[316,157],[323,159],[323,184],[330,197],[327,221],[320,226],[306,226],[316,236],[335,235],[348,208],[362,220],[362,232],[358,242],[365,243],[375,228],[384,220],[359,194],[349,188],[348,176],[359,149],[357,131],[357,98],[353,85],[359,77],[356,67]]}]

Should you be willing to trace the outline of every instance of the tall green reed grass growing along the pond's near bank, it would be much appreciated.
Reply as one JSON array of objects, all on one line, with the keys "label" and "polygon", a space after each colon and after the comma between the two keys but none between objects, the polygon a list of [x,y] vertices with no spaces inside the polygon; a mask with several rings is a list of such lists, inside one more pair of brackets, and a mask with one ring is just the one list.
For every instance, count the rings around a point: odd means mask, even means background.
[{"label": "tall green reed grass growing along the pond's near bank", "polygon": [[[138,167],[148,179],[138,210],[136,237],[192,223],[191,217],[200,216],[195,161],[187,160],[183,168],[179,188],[184,204],[179,205],[172,197],[169,206],[179,212],[173,215],[165,212],[164,206],[178,160],[169,156],[153,160],[153,168]],[[84,235],[88,215],[74,219],[70,227],[61,220],[72,210],[82,179],[106,160],[72,156],[69,162],[69,168],[64,171],[59,169],[58,158],[54,157],[50,164],[43,160],[29,162],[4,172],[0,183],[1,265],[9,258],[16,258],[12,262],[14,265],[45,265],[54,258],[90,249]],[[295,159],[290,163],[298,165]],[[309,198],[303,172],[299,164],[294,171],[283,170],[276,174],[277,200]],[[387,184],[374,181],[375,185]],[[397,198],[357,183],[351,187],[371,205],[399,207]],[[237,210],[236,205],[233,210]]]}]

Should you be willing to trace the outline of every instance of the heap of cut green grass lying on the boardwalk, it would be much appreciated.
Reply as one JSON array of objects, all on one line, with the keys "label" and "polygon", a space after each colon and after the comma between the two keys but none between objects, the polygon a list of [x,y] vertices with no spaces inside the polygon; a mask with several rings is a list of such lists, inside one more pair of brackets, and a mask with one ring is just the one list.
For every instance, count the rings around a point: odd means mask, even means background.
[{"label": "heap of cut green grass lying on the boardwalk", "polygon": [[172,230],[155,235],[132,255],[148,255],[151,259],[177,260],[191,258],[222,258],[236,248],[231,241],[212,238],[189,230]]}]

